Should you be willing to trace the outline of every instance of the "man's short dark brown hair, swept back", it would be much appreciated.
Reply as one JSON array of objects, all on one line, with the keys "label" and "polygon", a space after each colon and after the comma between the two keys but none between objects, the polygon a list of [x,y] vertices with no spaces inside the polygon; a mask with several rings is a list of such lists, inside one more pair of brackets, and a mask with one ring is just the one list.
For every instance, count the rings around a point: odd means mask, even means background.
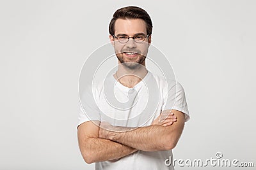
[{"label": "man's short dark brown hair, swept back", "polygon": [[137,7],[137,6],[127,6],[124,8],[120,8],[115,11],[111,22],[109,23],[109,34],[115,34],[115,22],[118,18],[140,18],[146,22],[147,34],[150,36],[152,34],[153,24],[151,21],[150,16],[148,15],[147,11]]}]

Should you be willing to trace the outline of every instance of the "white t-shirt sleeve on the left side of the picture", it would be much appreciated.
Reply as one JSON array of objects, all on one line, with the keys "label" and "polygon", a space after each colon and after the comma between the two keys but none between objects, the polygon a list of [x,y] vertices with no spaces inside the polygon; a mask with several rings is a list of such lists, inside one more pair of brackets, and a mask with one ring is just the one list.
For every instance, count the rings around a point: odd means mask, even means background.
[{"label": "white t-shirt sleeve on the left side of the picture", "polygon": [[92,87],[84,88],[83,92],[80,92],[79,96],[80,107],[78,112],[78,124],[77,127],[84,122],[101,120],[100,110],[93,97]]}]

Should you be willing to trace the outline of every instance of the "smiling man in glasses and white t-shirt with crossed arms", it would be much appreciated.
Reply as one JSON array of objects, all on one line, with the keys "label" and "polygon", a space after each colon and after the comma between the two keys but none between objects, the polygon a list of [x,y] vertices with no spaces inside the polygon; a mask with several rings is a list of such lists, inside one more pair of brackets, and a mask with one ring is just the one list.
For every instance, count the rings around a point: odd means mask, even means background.
[{"label": "smiling man in glasses and white t-shirt with crossed arms", "polygon": [[[134,6],[117,10],[109,24],[119,65],[105,81],[116,85],[116,98],[122,102],[118,108],[111,106],[102,92],[103,84],[87,89],[93,90],[97,104],[82,97],[86,113],[81,108],[77,127],[83,158],[88,164],[96,162],[95,169],[174,169],[164,160],[172,157],[172,148],[189,119],[188,107],[179,83],[167,87],[163,78],[146,69],[151,34],[148,13]],[[156,99],[146,92],[154,83]],[[152,113],[145,109],[150,106]]]}]

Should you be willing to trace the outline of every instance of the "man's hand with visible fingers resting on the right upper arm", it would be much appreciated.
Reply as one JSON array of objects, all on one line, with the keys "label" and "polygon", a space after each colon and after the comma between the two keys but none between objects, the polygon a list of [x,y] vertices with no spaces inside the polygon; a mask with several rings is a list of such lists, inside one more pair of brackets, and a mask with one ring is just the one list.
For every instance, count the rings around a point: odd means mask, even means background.
[{"label": "man's hand with visible fingers resting on the right upper arm", "polygon": [[177,121],[177,117],[173,113],[170,113],[170,111],[164,110],[162,113],[160,113],[159,117],[157,117],[151,125],[163,125],[168,126],[172,125],[173,122]]}]

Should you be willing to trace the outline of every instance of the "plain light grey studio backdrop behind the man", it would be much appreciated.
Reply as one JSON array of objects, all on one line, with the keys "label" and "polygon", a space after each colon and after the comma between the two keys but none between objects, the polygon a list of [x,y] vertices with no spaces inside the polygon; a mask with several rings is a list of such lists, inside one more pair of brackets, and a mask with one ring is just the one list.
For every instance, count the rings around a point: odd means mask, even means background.
[{"label": "plain light grey studio backdrop behind the man", "polygon": [[255,1],[1,1],[0,169],[93,169],[77,144],[79,73],[130,5],[152,17],[152,45],[186,92],[174,158],[256,164]]}]

